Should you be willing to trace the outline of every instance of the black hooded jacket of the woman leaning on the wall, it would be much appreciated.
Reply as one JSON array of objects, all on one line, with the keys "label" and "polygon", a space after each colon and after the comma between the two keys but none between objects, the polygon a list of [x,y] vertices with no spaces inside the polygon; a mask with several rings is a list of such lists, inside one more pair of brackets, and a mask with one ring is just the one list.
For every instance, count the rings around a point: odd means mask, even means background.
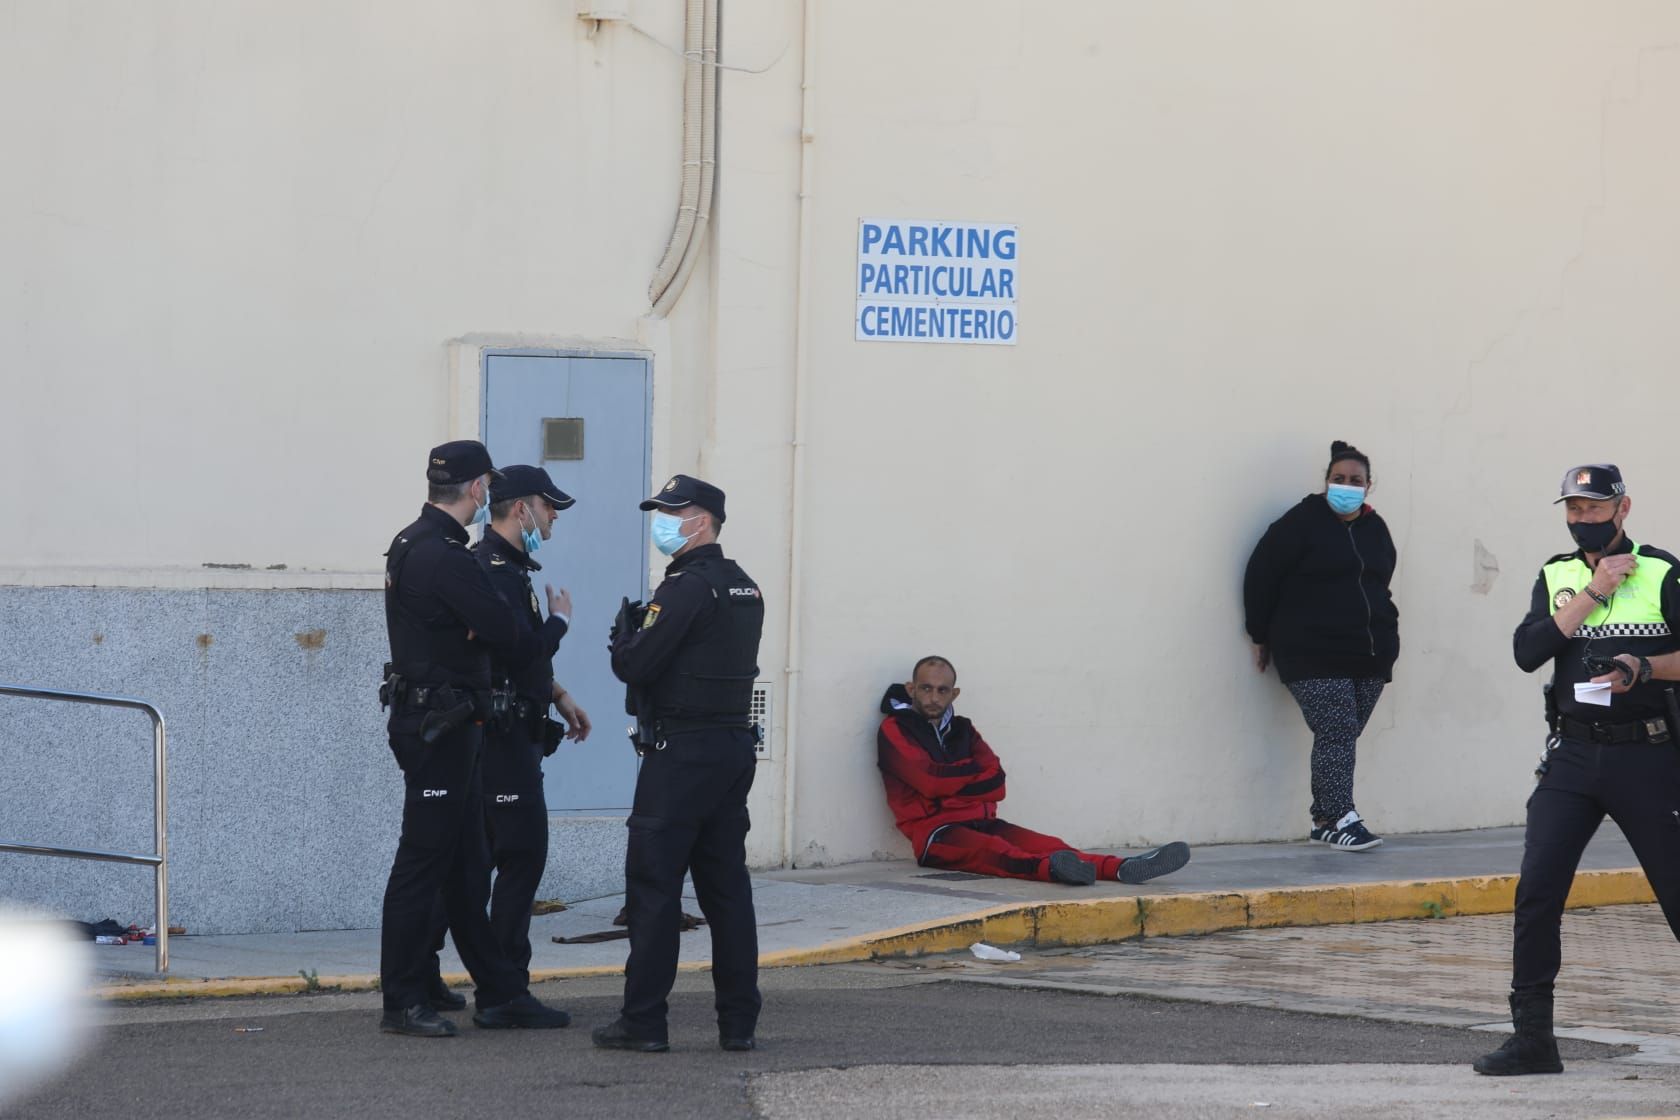
[{"label": "black hooded jacket of the woman leaning on the wall", "polygon": [[1376,510],[1342,521],[1322,494],[1309,494],[1248,557],[1248,636],[1270,646],[1284,682],[1389,680],[1399,657],[1393,574],[1394,539]]}]

